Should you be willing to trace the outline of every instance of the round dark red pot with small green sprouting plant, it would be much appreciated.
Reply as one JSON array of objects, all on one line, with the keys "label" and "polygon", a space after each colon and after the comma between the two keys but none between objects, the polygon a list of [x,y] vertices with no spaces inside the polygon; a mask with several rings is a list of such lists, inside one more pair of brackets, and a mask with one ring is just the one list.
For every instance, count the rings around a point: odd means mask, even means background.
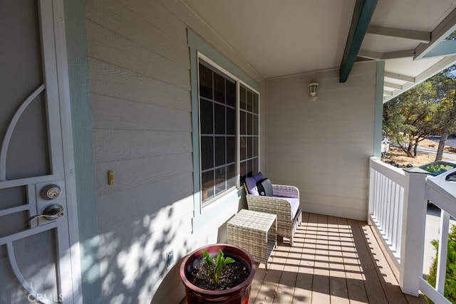
[{"label": "round dark red pot with small green sprouting plant", "polygon": [[247,304],[256,269],[252,256],[238,246],[217,243],[198,248],[180,265],[187,303]]}]

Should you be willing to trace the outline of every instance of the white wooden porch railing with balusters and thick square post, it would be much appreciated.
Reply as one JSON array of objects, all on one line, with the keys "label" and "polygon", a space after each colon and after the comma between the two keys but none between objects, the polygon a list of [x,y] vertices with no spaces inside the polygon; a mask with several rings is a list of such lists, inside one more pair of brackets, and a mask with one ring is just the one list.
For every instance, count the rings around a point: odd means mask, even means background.
[{"label": "white wooden porch railing with balusters and thick square post", "polygon": [[[423,291],[435,303],[450,303],[443,296],[450,216],[456,217],[456,198],[426,179],[419,168],[398,169],[371,157],[368,221],[383,239],[395,264],[403,293]],[[427,201],[440,207],[437,283],[423,278],[423,251]]]}]

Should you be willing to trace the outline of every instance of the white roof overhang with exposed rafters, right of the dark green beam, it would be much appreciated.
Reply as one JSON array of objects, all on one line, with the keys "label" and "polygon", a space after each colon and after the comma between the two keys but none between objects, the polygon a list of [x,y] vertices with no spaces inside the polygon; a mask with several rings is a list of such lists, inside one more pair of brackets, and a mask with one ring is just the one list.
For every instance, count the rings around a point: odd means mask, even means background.
[{"label": "white roof overhang with exposed rafters, right of the dark green beam", "polygon": [[358,60],[385,61],[384,103],[456,62],[456,41],[445,41],[456,30],[455,4],[428,2],[437,7],[380,1],[368,27]]}]

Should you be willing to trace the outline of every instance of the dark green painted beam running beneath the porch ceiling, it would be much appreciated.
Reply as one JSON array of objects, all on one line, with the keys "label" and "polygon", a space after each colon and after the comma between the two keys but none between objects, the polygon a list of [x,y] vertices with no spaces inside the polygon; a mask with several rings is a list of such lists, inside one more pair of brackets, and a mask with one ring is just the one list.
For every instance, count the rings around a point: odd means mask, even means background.
[{"label": "dark green painted beam running beneath the porch ceiling", "polygon": [[350,31],[343,51],[341,65],[339,67],[339,82],[345,83],[350,75],[353,63],[363,43],[373,12],[378,0],[356,0]]}]

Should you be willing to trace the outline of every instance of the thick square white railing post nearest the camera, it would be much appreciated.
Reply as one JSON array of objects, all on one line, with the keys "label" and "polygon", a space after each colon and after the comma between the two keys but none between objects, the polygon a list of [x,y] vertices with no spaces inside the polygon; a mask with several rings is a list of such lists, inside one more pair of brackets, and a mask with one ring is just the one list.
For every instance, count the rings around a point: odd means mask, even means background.
[{"label": "thick square white railing post nearest the camera", "polygon": [[426,176],[427,172],[423,169],[405,169],[399,285],[403,293],[415,296],[418,296],[420,277],[423,275]]}]

